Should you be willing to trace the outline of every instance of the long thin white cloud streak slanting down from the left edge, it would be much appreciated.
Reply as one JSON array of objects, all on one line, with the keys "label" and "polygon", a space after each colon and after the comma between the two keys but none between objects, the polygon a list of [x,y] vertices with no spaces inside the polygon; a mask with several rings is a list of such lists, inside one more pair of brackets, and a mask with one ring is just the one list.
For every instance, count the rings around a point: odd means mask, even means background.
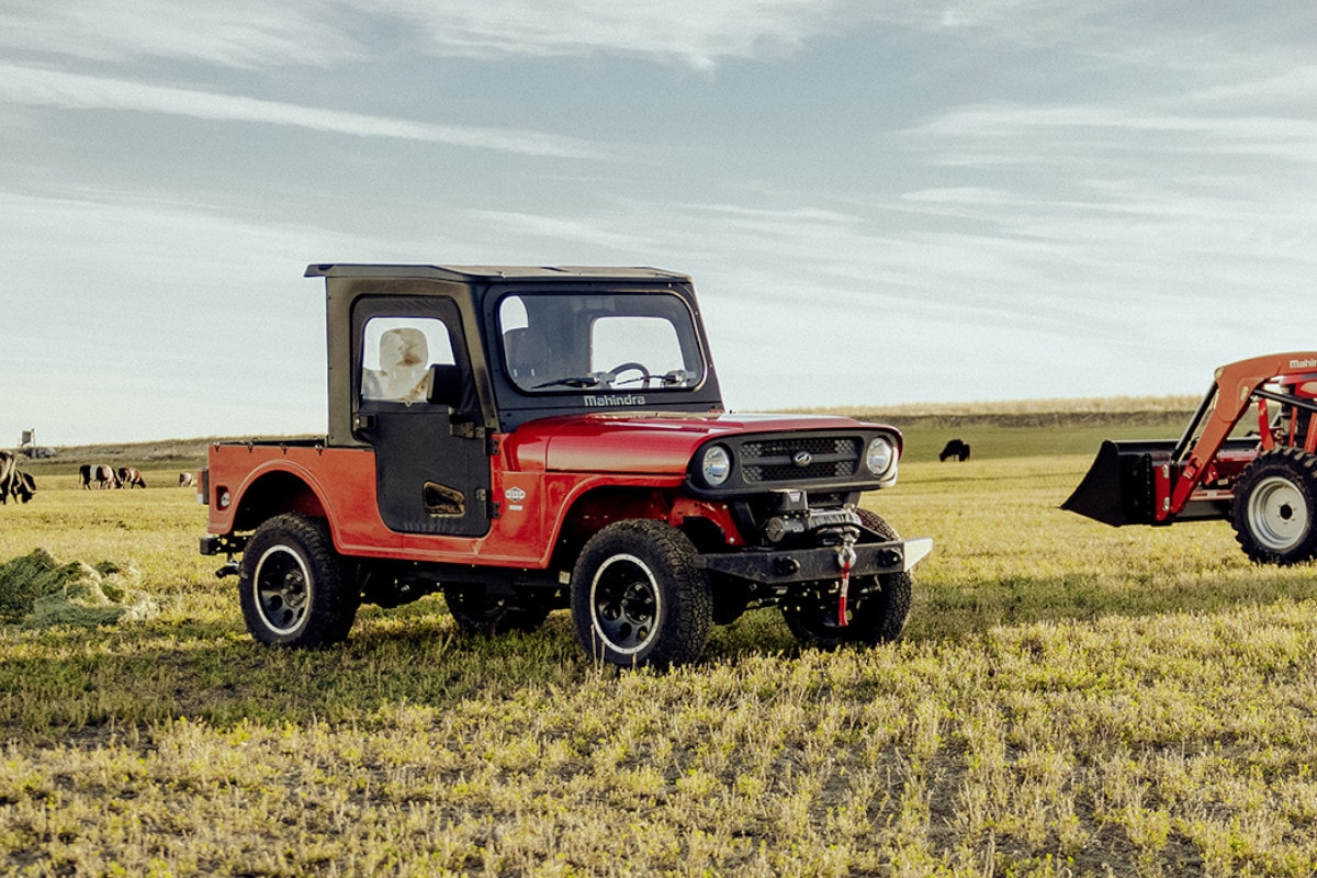
[{"label": "long thin white cloud streak slanting down from the left edge", "polygon": [[258,122],[354,137],[424,141],[551,158],[610,158],[607,150],[597,143],[558,134],[506,128],[435,125],[3,63],[0,63],[0,103]]}]

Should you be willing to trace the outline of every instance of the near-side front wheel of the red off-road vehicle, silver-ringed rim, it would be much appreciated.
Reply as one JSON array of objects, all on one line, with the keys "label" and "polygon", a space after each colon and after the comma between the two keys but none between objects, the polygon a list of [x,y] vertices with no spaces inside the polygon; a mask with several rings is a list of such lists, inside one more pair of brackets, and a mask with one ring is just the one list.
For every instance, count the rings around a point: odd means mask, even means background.
[{"label": "near-side front wheel of the red off-road vehicle, silver-ringed rim", "polygon": [[662,521],[616,521],[590,537],[572,573],[577,638],[612,665],[666,667],[699,658],[714,602],[695,546]]}]

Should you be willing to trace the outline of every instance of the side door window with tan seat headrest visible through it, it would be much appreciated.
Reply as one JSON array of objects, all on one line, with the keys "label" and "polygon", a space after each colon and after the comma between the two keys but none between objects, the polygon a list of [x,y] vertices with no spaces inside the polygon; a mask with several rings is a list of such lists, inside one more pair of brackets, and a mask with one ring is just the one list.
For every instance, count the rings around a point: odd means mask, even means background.
[{"label": "side door window with tan seat headrest visible through it", "polygon": [[453,365],[448,326],[433,317],[371,317],[361,358],[361,398],[390,403],[424,401],[433,365]]}]

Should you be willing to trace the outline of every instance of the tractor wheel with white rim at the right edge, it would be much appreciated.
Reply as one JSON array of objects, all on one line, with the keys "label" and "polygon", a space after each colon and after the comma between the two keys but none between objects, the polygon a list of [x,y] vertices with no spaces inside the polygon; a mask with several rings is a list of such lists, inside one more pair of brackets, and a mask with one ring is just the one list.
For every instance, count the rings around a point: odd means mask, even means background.
[{"label": "tractor wheel with white rim at the right edge", "polygon": [[1256,563],[1288,566],[1317,554],[1317,455],[1299,448],[1259,454],[1235,482],[1230,524]]}]

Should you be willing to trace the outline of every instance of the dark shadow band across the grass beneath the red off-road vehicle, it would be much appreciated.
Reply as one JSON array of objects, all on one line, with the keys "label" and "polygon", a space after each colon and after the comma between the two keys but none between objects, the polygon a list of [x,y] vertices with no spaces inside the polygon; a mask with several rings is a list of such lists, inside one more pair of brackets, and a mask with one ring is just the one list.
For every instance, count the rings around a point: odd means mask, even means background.
[{"label": "dark shadow band across the grass beneath the red off-road vehicle", "polygon": [[[1004,627],[1295,604],[1317,595],[1314,573],[1317,567],[1303,565],[1147,581],[1067,574],[942,583],[917,590],[902,641],[957,644]],[[777,609],[756,609],[715,627],[698,666],[789,661],[805,649]],[[487,637],[460,631],[439,599],[402,611],[363,608],[348,641],[311,650],[258,645],[237,617],[11,628],[0,632],[0,691],[7,694],[0,735],[97,741],[184,716],[221,728],[245,721],[369,724],[390,704],[443,710],[471,699],[610,684],[628,673],[585,654],[565,611],[533,633]]]}]

